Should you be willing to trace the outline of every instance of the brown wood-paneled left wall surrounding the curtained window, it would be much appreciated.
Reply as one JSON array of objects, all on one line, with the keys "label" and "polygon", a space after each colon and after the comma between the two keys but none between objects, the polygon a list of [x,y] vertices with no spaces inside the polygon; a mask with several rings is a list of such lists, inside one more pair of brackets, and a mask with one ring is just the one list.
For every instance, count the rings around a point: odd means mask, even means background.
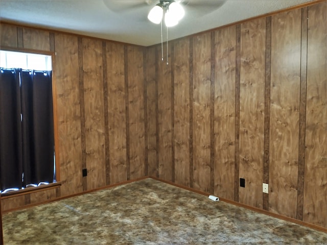
[{"label": "brown wood-paneled left wall surrounding the curtained window", "polygon": [[8,23],[1,23],[0,36],[4,49],[56,54],[62,183],[60,189],[2,199],[3,210],[148,175],[145,47]]}]

